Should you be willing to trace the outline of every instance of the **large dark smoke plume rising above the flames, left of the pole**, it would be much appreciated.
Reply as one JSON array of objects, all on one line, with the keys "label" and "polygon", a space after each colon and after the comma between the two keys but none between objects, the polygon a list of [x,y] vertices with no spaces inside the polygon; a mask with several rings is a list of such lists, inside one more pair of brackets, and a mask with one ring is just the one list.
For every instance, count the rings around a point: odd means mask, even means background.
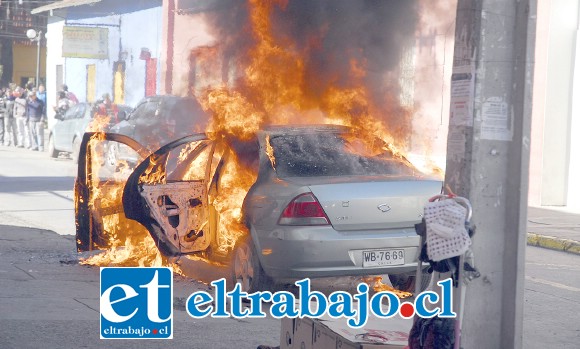
[{"label": "large dark smoke plume rising above the flames, left of the pole", "polygon": [[275,9],[276,35],[291,37],[307,53],[315,90],[350,87],[354,59],[365,65],[371,92],[380,93],[384,74],[398,69],[402,51],[413,44],[418,20],[413,0],[290,1],[285,10]]}]

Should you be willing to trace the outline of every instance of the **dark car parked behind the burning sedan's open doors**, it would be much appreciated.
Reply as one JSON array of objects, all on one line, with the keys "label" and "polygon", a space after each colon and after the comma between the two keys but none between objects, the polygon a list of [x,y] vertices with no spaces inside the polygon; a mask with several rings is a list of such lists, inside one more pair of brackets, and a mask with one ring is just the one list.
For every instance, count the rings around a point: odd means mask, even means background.
[{"label": "dark car parked behind the burning sedan's open doors", "polygon": [[[209,117],[194,98],[172,95],[143,98],[127,117],[109,132],[129,136],[149,151],[194,132],[205,130]],[[116,142],[106,143],[104,164],[136,164],[135,152]]]}]

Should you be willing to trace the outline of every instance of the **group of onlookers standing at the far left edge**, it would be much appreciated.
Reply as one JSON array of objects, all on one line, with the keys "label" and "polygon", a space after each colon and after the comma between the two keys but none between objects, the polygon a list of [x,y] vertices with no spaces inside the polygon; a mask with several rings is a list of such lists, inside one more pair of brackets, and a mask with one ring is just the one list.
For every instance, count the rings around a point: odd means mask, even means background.
[{"label": "group of onlookers standing at the far left edge", "polygon": [[0,89],[0,145],[44,151],[46,90],[33,84]]}]

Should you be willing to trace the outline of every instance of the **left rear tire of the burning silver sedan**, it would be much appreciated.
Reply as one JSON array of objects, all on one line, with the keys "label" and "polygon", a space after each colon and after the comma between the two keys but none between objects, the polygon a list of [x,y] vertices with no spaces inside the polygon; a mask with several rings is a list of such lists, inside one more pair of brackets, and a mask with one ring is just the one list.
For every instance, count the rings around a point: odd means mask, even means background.
[{"label": "left rear tire of the burning silver sedan", "polygon": [[231,272],[233,285],[240,284],[243,292],[268,291],[273,286],[272,279],[262,269],[251,238],[236,245]]}]

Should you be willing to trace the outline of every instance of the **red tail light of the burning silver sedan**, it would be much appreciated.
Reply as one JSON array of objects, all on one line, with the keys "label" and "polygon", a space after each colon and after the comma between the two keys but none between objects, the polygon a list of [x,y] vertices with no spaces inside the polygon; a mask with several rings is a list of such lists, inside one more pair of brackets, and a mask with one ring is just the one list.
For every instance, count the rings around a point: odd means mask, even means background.
[{"label": "red tail light of the burning silver sedan", "polygon": [[280,225],[327,225],[330,224],[322,206],[312,193],[295,197],[282,212]]}]

